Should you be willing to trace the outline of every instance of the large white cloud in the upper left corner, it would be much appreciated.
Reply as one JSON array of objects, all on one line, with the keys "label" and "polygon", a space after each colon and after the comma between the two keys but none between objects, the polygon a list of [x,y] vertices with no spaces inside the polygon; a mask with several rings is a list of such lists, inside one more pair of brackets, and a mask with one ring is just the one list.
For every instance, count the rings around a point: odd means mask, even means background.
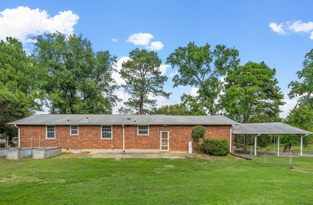
[{"label": "large white cloud in the upper left corner", "polygon": [[50,17],[47,11],[39,8],[19,6],[5,9],[0,12],[0,39],[11,36],[25,43],[30,41],[30,35],[41,35],[45,32],[71,34],[78,19],[79,16],[70,10],[60,11],[58,15]]}]

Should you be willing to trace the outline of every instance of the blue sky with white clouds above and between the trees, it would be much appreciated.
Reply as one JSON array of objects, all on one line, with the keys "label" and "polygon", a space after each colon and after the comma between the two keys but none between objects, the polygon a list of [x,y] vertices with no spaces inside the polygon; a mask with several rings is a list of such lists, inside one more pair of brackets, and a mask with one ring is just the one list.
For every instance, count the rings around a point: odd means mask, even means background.
[{"label": "blue sky with white clouds above and between the trees", "polygon": [[[164,89],[173,93],[170,100],[157,98],[159,106],[179,103],[182,93],[196,92],[191,87],[173,88],[175,69],[165,65],[170,53],[190,41],[212,48],[224,44],[239,50],[241,65],[264,61],[276,69],[286,102],[281,117],[286,117],[296,103],[287,96],[288,84],[297,80],[295,73],[313,48],[312,6],[310,0],[3,1],[0,39],[15,37],[31,50],[32,35],[55,30],[82,34],[95,51],[109,50],[117,56],[117,69],[136,47],[154,50],[168,76]],[[117,74],[114,78],[122,83]],[[127,99],[123,90],[116,94]]]}]

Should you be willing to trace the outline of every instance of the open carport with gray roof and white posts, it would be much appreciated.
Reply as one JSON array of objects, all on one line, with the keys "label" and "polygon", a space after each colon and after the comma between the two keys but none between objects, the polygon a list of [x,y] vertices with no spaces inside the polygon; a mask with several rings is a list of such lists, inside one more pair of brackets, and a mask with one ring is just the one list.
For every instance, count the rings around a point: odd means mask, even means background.
[{"label": "open carport with gray roof and white posts", "polygon": [[[253,134],[254,135],[254,155],[256,155],[257,137],[261,134],[278,135],[278,152],[279,156],[279,135],[280,134],[300,134],[300,156],[302,157],[303,137],[312,132],[300,129],[285,123],[243,123],[234,125],[231,128],[232,134]],[[232,137],[232,135],[231,135]],[[230,139],[232,142],[232,139]]]}]

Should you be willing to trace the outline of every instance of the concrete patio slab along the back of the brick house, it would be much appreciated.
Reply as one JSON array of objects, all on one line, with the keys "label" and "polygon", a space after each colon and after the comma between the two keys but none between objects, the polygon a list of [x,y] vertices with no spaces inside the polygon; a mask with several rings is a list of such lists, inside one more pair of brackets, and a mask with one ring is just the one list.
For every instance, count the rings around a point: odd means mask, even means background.
[{"label": "concrete patio slab along the back of the brick house", "polygon": [[159,152],[159,153],[103,153],[103,152],[86,152],[80,153],[79,158],[112,158],[120,160],[121,158],[166,158],[166,159],[184,159],[186,153],[182,152]]}]

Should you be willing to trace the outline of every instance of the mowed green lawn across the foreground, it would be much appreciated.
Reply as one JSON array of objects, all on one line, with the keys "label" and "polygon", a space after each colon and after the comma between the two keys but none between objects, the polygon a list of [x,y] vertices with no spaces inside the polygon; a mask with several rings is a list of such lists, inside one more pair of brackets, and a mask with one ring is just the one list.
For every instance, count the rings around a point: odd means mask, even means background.
[{"label": "mowed green lawn across the foreground", "polygon": [[0,159],[0,204],[312,204],[313,174],[234,156]]}]

